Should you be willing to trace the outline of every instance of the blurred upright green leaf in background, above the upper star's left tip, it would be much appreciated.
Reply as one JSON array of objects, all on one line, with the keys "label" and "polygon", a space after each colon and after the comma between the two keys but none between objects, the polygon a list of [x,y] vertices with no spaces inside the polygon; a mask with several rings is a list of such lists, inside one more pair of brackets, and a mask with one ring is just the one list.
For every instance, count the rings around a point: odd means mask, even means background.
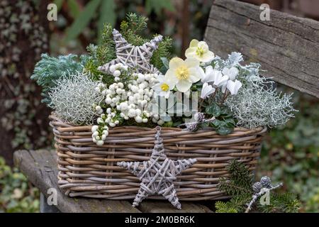
[{"label": "blurred upright green leaf in background, above the upper star's left tip", "polygon": [[102,31],[103,31],[103,24],[109,23],[112,27],[116,24],[116,4],[114,3],[114,0],[104,0],[101,4],[100,8],[100,18],[98,22],[98,28],[99,28],[99,40],[98,42],[101,43],[102,40]]}]

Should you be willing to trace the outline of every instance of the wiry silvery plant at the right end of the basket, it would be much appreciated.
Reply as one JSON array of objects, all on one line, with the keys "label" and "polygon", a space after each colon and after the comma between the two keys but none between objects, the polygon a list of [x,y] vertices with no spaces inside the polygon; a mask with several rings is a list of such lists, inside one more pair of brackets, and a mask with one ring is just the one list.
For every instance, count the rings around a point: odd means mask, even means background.
[{"label": "wiry silvery plant at the right end of the basket", "polygon": [[225,104],[233,111],[237,126],[257,128],[279,126],[292,118],[291,95],[282,95],[274,89],[274,82],[259,75],[247,75],[245,86]]}]

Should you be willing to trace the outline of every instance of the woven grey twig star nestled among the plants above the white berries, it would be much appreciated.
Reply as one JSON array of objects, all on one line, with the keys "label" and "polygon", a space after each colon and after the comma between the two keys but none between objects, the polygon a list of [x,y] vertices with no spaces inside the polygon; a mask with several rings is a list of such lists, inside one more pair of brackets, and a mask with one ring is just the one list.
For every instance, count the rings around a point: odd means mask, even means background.
[{"label": "woven grey twig star nestled among the plants above the white berries", "polygon": [[113,29],[113,40],[116,43],[116,59],[98,68],[101,72],[109,72],[111,65],[122,63],[130,68],[136,68],[141,73],[159,73],[156,67],[150,63],[153,52],[157,50],[158,44],[162,41],[162,35],[157,35],[150,42],[135,46],[123,38],[121,33]]}]

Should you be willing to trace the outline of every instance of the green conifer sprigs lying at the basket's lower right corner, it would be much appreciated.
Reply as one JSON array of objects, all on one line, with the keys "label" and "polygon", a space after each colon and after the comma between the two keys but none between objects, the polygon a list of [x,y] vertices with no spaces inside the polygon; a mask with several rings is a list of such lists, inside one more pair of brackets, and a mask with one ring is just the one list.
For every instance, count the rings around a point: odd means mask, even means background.
[{"label": "green conifer sprigs lying at the basket's lower right corner", "polygon": [[[228,165],[230,172],[229,179],[222,177],[219,182],[219,189],[232,196],[230,201],[218,201],[215,204],[217,213],[243,212],[251,201],[253,191],[253,177],[242,162],[232,160]],[[300,207],[296,196],[290,193],[270,193],[270,204],[257,204],[255,211],[259,212],[298,212]]]}]

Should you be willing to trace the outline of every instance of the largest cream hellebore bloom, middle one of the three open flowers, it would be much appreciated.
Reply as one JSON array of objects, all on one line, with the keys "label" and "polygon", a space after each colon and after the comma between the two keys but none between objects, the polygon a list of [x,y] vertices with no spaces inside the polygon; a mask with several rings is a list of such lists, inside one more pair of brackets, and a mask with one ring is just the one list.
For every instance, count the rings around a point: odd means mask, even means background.
[{"label": "largest cream hellebore bloom, middle one of the three open flowers", "polygon": [[200,69],[199,62],[195,58],[182,60],[179,57],[173,57],[169,62],[169,70],[165,77],[175,83],[179,92],[187,92],[191,84],[201,79]]}]

